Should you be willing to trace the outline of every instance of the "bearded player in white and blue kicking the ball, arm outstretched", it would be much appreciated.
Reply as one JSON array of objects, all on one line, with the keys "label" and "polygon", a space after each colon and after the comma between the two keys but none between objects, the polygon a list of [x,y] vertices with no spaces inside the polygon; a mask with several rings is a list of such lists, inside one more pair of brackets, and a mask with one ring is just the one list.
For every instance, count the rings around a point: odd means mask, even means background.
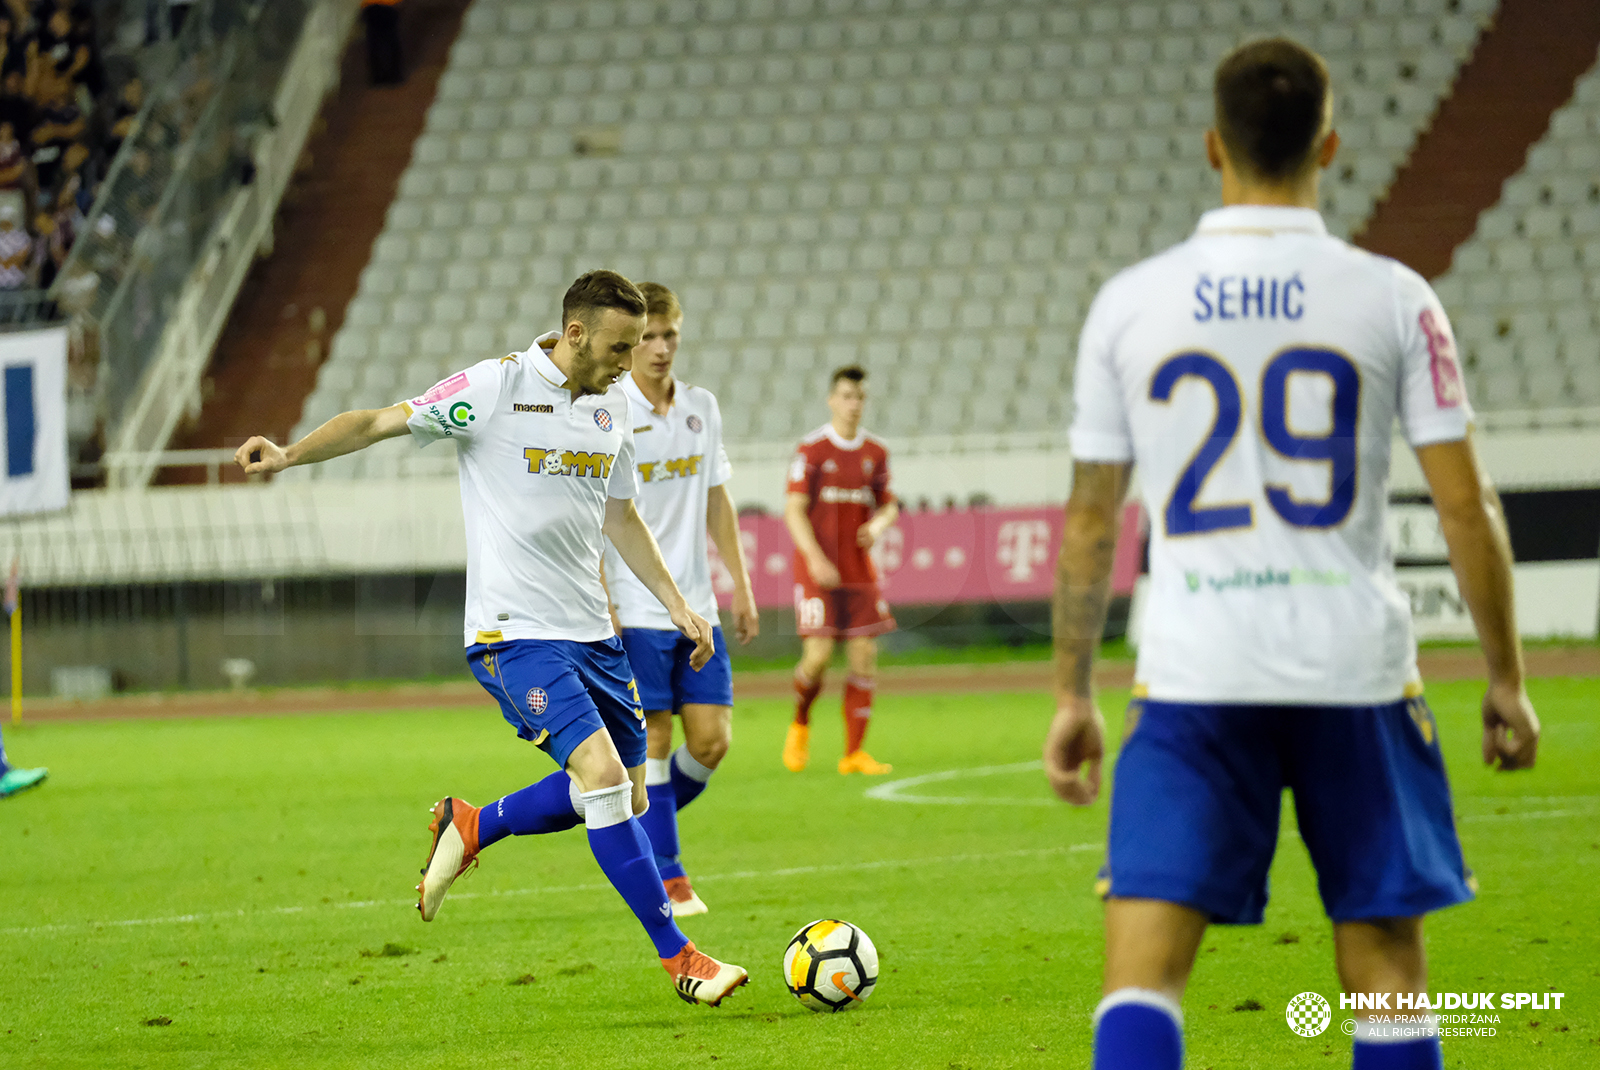
[{"label": "bearded player in white and blue kicking the ball, arm outstretched", "polygon": [[672,921],[635,817],[646,806],[645,713],[600,585],[610,537],[694,645],[691,665],[712,656],[710,624],[685,603],[634,509],[634,417],[616,381],[643,329],[645,297],[634,283],[589,272],[562,301],[562,329],[526,352],[472,365],[419,398],[334,416],[288,448],[254,437],[237,461],[246,472],[280,472],[406,433],[419,446],[456,443],[467,662],[517,734],[560,771],[483,809],[440,800],[418,910],[432,921],[451,881],[490,844],[582,822],[678,995],[715,1006],[747,976],[698,952]]}]

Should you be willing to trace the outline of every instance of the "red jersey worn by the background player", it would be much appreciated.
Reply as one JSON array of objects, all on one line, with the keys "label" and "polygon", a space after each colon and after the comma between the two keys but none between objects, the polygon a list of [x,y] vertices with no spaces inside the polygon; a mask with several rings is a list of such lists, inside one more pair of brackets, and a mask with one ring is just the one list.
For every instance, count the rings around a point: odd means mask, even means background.
[{"label": "red jersey worn by the background player", "polygon": [[[789,493],[811,499],[806,518],[827,560],[838,568],[845,584],[875,584],[872,558],[856,542],[861,525],[890,494],[890,451],[866,432],[840,438],[832,424],[822,424],[800,440],[789,465]],[[810,582],[800,553],[795,553],[795,581]]]}]

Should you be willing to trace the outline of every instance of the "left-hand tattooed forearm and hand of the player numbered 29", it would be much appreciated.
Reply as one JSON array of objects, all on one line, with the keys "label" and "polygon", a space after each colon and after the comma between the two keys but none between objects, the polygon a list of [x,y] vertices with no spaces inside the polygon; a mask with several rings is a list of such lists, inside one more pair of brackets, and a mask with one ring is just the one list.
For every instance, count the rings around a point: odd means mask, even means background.
[{"label": "left-hand tattooed forearm and hand of the player numbered 29", "polygon": [[1117,512],[1128,493],[1126,464],[1072,465],[1051,632],[1056,646],[1056,717],[1045,736],[1045,774],[1056,795],[1086,806],[1099,797],[1106,720],[1094,705],[1094,649],[1106,629]]}]

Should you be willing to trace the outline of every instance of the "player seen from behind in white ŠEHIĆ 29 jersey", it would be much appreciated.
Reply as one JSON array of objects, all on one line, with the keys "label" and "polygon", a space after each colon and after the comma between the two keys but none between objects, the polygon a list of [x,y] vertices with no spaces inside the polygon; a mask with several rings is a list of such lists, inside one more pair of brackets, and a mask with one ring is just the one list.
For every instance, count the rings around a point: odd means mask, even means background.
[{"label": "player seen from behind in white \u0160EHI\u0106 29 jersey", "polygon": [[[1045,741],[1072,803],[1099,790],[1090,667],[1133,465],[1155,518],[1102,883],[1102,1070],[1182,1062],[1195,950],[1208,924],[1261,923],[1285,787],[1346,992],[1426,992],[1422,916],[1472,897],[1386,537],[1397,419],[1488,659],[1483,758],[1525,769],[1539,742],[1445,310],[1410,269],[1328,237],[1315,210],[1339,146],[1326,67],[1256,42],[1222,61],[1214,93],[1224,206],[1106,283],[1077,363]],[[1358,1014],[1355,1070],[1442,1065],[1437,1025],[1386,1032]]]}]

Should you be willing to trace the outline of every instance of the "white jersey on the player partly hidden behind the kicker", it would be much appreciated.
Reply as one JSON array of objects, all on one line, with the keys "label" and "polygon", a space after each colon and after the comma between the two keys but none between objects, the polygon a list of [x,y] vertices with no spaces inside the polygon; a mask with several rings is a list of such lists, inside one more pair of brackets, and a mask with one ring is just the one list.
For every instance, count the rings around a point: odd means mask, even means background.
[{"label": "white jersey on the player partly hidden behind the kicker", "polygon": [[[710,390],[674,379],[672,408],[658,414],[632,374],[618,382],[634,413],[634,449],[638,494],[634,504],[645,518],[667,571],[690,609],[717,622],[706,547],[706,497],[733,477],[722,446],[722,409]],[[605,577],[624,629],[670,629],[672,617],[622,555],[606,542]]]}]

